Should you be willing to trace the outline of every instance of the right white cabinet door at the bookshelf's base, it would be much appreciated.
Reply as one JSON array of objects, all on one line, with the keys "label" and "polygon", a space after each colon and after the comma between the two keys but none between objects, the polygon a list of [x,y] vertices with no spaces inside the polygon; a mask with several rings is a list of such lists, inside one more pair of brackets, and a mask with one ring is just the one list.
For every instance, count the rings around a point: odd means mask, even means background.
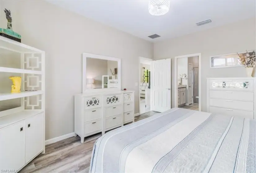
[{"label": "right white cabinet door at the bookshelf's base", "polygon": [[26,163],[43,150],[43,113],[26,120]]}]

